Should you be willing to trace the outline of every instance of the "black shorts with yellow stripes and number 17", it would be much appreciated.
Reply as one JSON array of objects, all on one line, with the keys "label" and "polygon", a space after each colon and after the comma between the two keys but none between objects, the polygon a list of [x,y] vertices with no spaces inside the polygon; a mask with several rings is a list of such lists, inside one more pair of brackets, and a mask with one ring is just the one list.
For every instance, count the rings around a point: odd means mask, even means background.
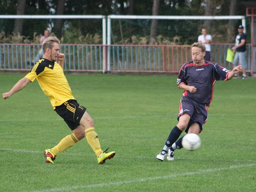
[{"label": "black shorts with yellow stripes and number 17", "polygon": [[70,99],[60,106],[56,106],[56,113],[61,116],[71,130],[76,129],[86,111],[86,108],[79,105],[75,99]]}]

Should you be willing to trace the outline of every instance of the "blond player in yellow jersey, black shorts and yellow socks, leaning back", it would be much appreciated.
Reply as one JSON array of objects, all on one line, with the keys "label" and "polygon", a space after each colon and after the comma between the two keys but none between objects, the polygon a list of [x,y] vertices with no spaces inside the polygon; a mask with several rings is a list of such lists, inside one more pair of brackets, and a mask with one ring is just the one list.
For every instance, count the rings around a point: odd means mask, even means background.
[{"label": "blond player in yellow jersey, black shorts and yellow socks, leaning back", "polygon": [[[73,97],[69,83],[63,73],[65,55],[59,52],[59,44],[59,39],[56,37],[45,39],[42,45],[43,58],[9,92],[3,93],[3,99],[9,98],[37,79],[41,89],[49,97],[53,109],[64,119],[73,132],[64,137],[53,148],[44,150],[46,163],[54,163],[58,153],[72,147],[84,137],[94,150],[98,163],[105,163],[107,159],[114,157],[116,152],[108,153],[101,149],[98,135],[94,130],[93,119],[86,112],[86,108],[79,105]],[[57,59],[59,63],[56,62]]]}]

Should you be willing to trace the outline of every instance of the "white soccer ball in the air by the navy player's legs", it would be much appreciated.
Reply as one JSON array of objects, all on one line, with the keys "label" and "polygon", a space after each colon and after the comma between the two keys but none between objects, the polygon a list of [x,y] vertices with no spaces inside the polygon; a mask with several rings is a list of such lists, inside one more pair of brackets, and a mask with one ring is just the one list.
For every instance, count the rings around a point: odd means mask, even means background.
[{"label": "white soccer ball in the air by the navy player's legs", "polygon": [[189,133],[182,138],[181,144],[184,149],[194,151],[200,147],[201,139],[197,134]]}]

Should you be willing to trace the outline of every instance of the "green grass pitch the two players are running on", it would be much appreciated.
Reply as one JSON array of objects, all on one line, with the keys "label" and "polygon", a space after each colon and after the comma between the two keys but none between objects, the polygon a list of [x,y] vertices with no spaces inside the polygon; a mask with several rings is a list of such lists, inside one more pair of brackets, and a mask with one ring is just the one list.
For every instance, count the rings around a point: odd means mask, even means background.
[{"label": "green grass pitch the two players are running on", "polygon": [[[1,93],[24,75],[0,74]],[[74,97],[95,121],[98,165],[86,139],[46,164],[43,150],[70,134],[35,81],[0,100],[0,191],[252,192],[256,188],[256,79],[216,82],[201,148],[160,162],[177,124],[176,76],[67,75]]]}]

